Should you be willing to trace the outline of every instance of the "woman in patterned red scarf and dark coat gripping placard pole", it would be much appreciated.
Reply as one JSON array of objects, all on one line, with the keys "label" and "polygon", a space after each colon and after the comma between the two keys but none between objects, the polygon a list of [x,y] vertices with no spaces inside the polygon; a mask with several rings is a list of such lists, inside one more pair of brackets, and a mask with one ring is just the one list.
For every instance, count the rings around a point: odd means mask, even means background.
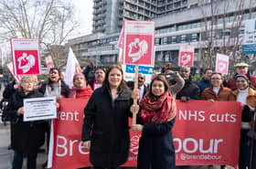
[{"label": "woman in patterned red scarf and dark coat gripping placard pole", "polygon": [[[134,132],[142,132],[137,169],[176,168],[172,128],[176,121],[176,93],[185,82],[176,72],[168,70],[165,74],[173,76],[176,84],[169,86],[165,76],[156,76],[140,102],[138,121],[141,124],[132,126]],[[137,110],[138,107],[131,107],[131,111]]]}]

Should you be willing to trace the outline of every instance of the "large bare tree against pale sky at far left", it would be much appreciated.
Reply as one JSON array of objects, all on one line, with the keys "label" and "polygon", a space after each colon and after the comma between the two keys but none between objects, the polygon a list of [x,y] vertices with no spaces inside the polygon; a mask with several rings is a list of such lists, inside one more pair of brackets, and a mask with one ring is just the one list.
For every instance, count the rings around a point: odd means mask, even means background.
[{"label": "large bare tree against pale sky at far left", "polygon": [[0,40],[11,37],[38,38],[59,66],[60,46],[78,24],[73,6],[65,0],[1,0]]}]

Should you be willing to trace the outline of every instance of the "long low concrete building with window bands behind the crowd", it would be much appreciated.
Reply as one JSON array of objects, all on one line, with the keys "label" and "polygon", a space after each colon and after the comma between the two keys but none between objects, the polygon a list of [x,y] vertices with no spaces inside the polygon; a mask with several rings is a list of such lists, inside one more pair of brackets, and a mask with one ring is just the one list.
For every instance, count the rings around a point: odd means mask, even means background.
[{"label": "long low concrete building with window bands behind the crowd", "polygon": [[[140,1],[137,0],[136,2]],[[153,1],[150,2],[153,3]],[[156,1],[157,5],[160,2],[162,1]],[[163,2],[174,4],[180,1],[165,0]],[[229,4],[226,4],[227,2]],[[243,4],[240,4],[241,2]],[[174,10],[170,13],[163,10],[165,11],[163,15],[158,13],[158,16],[151,18],[155,21],[155,68],[163,67],[165,62],[172,62],[176,66],[180,45],[195,46],[195,67],[197,68],[202,67],[201,60],[203,57],[213,55],[214,52],[221,53],[223,47],[226,48],[226,46],[235,48],[235,51],[228,51],[228,54],[239,58],[244,34],[244,21],[256,17],[255,4],[250,4],[250,2],[250,0],[191,0],[187,1],[186,9]],[[211,10],[213,8],[218,13],[213,13]],[[73,41],[71,47],[86,46],[87,51],[73,48],[75,52],[80,51],[79,58],[94,59],[99,66],[111,65],[118,61],[116,44],[119,34],[120,32],[101,34],[101,37],[97,37],[93,43],[88,37],[94,34],[78,37],[83,40]],[[214,40],[210,41],[210,39]],[[210,49],[209,53],[208,48]],[[230,48],[226,48],[226,50],[230,50]],[[208,67],[213,68],[214,65],[208,65]]]}]

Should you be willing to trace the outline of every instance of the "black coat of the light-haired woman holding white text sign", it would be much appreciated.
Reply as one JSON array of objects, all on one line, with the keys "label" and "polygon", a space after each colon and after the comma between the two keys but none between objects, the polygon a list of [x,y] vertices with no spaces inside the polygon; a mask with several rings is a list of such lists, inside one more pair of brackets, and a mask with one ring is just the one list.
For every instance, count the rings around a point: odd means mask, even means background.
[{"label": "black coat of the light-haired woman holding white text sign", "polygon": [[17,114],[17,110],[23,107],[24,99],[38,97],[43,97],[43,95],[37,90],[27,95],[23,91],[16,90],[9,103],[9,114],[16,117],[11,144],[13,149],[19,153],[37,153],[38,148],[45,142],[44,121],[23,121],[23,115]]}]

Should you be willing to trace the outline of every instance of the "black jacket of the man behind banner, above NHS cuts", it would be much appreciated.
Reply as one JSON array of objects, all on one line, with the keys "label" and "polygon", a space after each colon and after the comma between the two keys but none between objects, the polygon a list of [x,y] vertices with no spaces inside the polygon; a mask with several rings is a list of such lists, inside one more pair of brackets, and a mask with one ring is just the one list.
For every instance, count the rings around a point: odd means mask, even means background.
[{"label": "black jacket of the man behind banner, above NHS cuts", "polygon": [[184,87],[176,94],[176,100],[180,100],[182,96],[186,96],[187,100],[199,100],[200,89],[191,79],[186,79]]}]

